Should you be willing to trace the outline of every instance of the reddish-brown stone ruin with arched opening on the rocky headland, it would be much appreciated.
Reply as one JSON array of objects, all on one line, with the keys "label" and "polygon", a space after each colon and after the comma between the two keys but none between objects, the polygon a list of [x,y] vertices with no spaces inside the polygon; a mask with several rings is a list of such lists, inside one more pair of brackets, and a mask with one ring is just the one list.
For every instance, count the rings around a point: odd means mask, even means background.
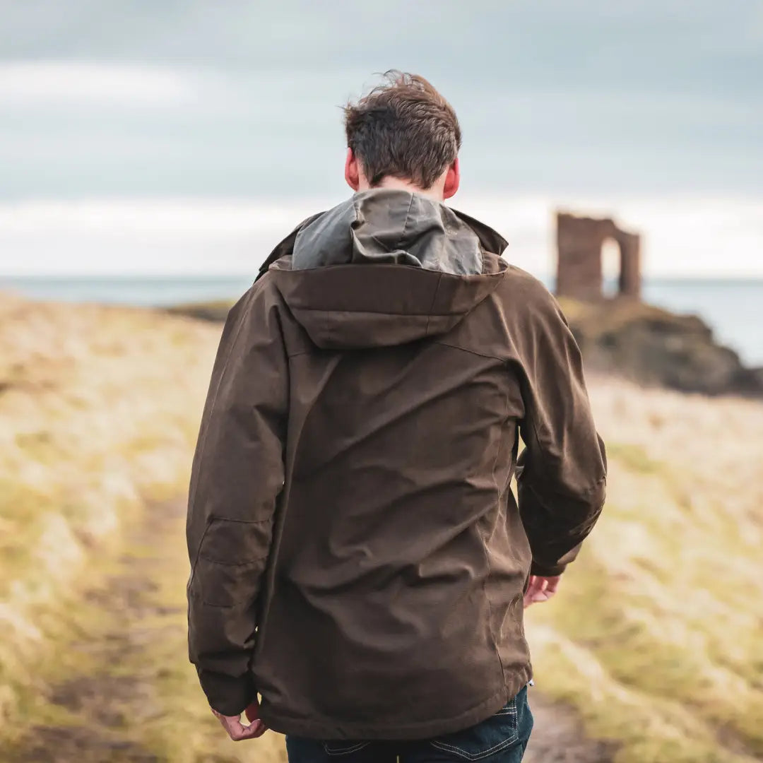
[{"label": "reddish-brown stone ruin with arched opening on the rocky headland", "polygon": [[604,298],[601,247],[607,239],[620,247],[620,279],[617,295],[641,296],[641,237],[621,230],[609,218],[556,214],[558,253],[556,293],[586,301]]}]

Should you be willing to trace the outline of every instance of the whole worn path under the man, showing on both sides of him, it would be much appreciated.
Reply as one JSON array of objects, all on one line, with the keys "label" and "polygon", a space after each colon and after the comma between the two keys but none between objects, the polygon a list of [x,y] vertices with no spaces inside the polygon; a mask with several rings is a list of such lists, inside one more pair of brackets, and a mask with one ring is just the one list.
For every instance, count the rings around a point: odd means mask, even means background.
[{"label": "whole worn path under the man, showing on both sides of him", "polygon": [[[125,532],[121,555],[95,562],[76,607],[76,638],[56,647],[62,669],[37,725],[2,763],[282,763],[282,737],[224,738],[188,668],[182,502],[152,507]],[[610,763],[574,713],[533,690],[529,763]]]}]

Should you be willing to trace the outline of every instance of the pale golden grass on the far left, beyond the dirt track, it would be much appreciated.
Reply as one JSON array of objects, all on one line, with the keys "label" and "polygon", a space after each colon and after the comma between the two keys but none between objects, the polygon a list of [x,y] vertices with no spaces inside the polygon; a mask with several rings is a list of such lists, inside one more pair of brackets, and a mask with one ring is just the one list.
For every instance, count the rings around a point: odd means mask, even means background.
[{"label": "pale golden grass on the far left, beyond the dirt track", "polygon": [[46,691],[89,560],[184,491],[217,339],[149,311],[0,302],[0,740]]}]

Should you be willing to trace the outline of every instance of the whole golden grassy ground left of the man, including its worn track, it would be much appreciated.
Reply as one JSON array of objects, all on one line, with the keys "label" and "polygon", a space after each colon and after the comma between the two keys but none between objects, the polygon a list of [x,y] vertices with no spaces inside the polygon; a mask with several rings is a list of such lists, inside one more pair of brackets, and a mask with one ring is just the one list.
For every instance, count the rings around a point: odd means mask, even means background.
[{"label": "whole golden grassy ground left of the man, including its worn track", "polygon": [[284,759],[227,742],[188,664],[182,496],[218,339],[0,301],[0,760]]}]

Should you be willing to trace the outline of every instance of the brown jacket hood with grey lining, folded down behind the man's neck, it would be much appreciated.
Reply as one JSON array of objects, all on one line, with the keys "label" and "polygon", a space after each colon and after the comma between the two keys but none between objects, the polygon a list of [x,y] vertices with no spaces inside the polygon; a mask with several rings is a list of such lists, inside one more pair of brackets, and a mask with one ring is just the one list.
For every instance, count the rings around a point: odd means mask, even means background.
[{"label": "brown jacket hood with grey lining, folded down behind the man's neck", "polygon": [[494,230],[426,196],[379,188],[311,217],[270,273],[324,349],[393,346],[445,333],[506,272]]}]

